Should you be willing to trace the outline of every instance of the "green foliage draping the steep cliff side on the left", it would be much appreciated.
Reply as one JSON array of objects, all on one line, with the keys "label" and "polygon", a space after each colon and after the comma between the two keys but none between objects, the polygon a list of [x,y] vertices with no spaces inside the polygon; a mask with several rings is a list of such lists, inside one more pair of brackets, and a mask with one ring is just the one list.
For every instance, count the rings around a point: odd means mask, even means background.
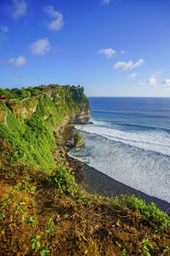
[{"label": "green foliage draping the steep cliff side on the left", "polygon": [[[53,100],[42,92],[42,95],[36,99],[30,98],[23,102],[15,102],[13,108],[17,114],[14,114],[2,102],[0,119],[3,120],[1,113],[7,113],[7,125],[3,122],[0,124],[0,143],[4,140],[8,147],[13,148],[6,152],[8,162],[25,160],[30,165],[41,167],[46,172],[51,172],[54,169],[54,158],[51,151],[55,148],[55,138],[52,125],[59,127],[65,113],[68,114],[77,109],[77,102],[86,102],[82,88],[69,85],[59,87],[57,84],[56,87],[54,86],[54,90],[52,90]],[[38,87],[28,87],[27,89],[23,87],[21,90],[16,88],[5,91],[8,92],[8,97],[16,96],[20,99],[40,93]],[[3,89],[0,92],[5,94]],[[36,112],[29,115],[30,109],[35,106]],[[21,109],[26,113],[25,119],[20,114]]]}]

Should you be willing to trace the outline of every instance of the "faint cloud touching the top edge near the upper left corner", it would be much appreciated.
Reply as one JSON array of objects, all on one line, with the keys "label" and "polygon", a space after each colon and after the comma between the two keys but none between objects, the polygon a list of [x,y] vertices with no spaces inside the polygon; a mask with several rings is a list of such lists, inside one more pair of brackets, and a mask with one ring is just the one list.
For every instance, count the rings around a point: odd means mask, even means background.
[{"label": "faint cloud touching the top edge near the upper left corner", "polygon": [[12,15],[14,19],[18,19],[20,16],[26,15],[27,5],[25,0],[12,0]]}]

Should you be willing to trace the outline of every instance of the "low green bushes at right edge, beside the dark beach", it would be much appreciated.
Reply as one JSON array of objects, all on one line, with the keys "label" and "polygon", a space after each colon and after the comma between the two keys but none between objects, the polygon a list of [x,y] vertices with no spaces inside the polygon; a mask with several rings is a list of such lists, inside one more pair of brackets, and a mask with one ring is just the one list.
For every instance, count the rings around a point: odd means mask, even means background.
[{"label": "low green bushes at right edge, beside the dark beach", "polygon": [[133,211],[139,210],[145,220],[151,225],[154,225],[157,230],[162,230],[164,226],[170,228],[170,217],[167,215],[167,212],[162,212],[153,202],[146,204],[144,200],[134,195],[122,195],[122,202],[125,203],[127,207],[132,208]]}]

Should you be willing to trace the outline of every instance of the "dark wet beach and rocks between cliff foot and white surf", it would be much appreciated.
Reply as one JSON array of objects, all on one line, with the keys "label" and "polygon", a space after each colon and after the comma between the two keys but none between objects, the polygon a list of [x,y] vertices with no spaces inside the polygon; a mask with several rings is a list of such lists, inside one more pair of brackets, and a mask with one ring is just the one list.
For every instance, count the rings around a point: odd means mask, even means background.
[{"label": "dark wet beach and rocks between cliff foot and white surf", "polygon": [[[74,134],[74,125],[68,125],[61,133],[65,141],[70,141]],[[71,150],[68,146],[65,154],[65,160],[68,162],[71,169],[74,169],[74,175],[78,184],[82,185],[89,193],[98,193],[99,195],[114,196],[121,198],[121,195],[135,195],[139,199],[143,199],[147,203],[153,202],[163,212],[170,214],[170,203],[162,201],[154,196],[146,195],[143,192],[133,189],[123,183],[117,182],[111,177],[108,177],[102,172],[88,166],[87,164],[76,160],[68,155]]]}]

